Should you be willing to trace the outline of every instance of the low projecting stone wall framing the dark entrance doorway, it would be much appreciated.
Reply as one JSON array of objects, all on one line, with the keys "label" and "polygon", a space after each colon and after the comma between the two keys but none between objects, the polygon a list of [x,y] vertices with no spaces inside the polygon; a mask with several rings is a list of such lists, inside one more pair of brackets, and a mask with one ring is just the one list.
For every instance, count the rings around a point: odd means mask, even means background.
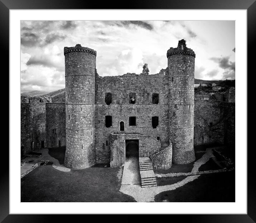
[{"label": "low projecting stone wall framing the dark entrance doorway", "polygon": [[[109,135],[110,167],[118,167],[125,161],[125,140],[139,140],[139,157],[150,157],[161,149],[161,142],[155,137],[143,134],[111,133]],[[108,161],[109,162],[109,161]]]}]

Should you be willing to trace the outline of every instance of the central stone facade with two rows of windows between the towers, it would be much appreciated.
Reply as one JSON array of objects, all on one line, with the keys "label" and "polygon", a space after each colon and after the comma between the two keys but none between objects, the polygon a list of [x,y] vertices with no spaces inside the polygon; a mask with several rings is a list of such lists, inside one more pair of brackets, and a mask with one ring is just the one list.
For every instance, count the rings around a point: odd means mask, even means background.
[{"label": "central stone facade with two rows of windows between the towers", "polygon": [[[168,84],[164,71],[156,75],[126,74],[123,76],[96,76],[95,94],[95,149],[97,163],[108,163],[110,160],[111,133],[120,133],[119,123],[125,123],[125,133],[139,133],[157,137],[161,142],[168,142]],[[105,93],[112,93],[112,103],[105,103]],[[136,93],[136,103],[129,104],[129,93]],[[152,104],[152,94],[159,94],[159,103]],[[112,127],[105,127],[105,115],[112,115]],[[136,126],[129,126],[129,117],[136,117]],[[158,116],[158,127],[153,129],[152,117]],[[104,145],[103,145],[104,143]],[[146,140],[140,148],[140,156],[148,156],[152,150],[151,141]]]}]

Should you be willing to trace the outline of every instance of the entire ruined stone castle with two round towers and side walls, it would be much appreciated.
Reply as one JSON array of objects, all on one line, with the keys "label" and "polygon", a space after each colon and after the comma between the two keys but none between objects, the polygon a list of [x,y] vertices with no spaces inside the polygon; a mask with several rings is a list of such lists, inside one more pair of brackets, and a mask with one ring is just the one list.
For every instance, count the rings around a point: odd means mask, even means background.
[{"label": "entire ruined stone castle with two round towers and side walls", "polygon": [[99,76],[96,51],[80,44],[65,47],[64,55],[65,103],[21,99],[26,152],[65,145],[68,168],[117,167],[133,142],[154,169],[168,169],[193,162],[194,144],[234,142],[235,104],[194,101],[195,53],[185,40],[168,49],[168,67],[152,75],[145,64],[141,74]]}]

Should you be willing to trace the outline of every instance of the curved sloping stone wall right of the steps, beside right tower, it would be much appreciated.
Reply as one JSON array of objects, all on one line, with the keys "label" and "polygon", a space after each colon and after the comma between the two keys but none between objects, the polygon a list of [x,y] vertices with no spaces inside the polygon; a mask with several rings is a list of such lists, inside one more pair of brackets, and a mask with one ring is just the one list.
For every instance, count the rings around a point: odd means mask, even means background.
[{"label": "curved sloping stone wall right of the steps, beside right tower", "polygon": [[154,170],[166,170],[172,167],[172,143],[151,155]]}]

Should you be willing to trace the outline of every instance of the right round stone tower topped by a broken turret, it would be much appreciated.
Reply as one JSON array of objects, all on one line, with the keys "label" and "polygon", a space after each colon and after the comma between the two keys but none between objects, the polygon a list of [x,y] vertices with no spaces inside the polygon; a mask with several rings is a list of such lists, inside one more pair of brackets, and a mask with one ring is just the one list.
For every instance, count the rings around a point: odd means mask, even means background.
[{"label": "right round stone tower topped by a broken turret", "polygon": [[187,164],[195,160],[194,81],[195,52],[179,40],[177,48],[167,51],[169,84],[169,139],[173,145],[172,162]]}]

